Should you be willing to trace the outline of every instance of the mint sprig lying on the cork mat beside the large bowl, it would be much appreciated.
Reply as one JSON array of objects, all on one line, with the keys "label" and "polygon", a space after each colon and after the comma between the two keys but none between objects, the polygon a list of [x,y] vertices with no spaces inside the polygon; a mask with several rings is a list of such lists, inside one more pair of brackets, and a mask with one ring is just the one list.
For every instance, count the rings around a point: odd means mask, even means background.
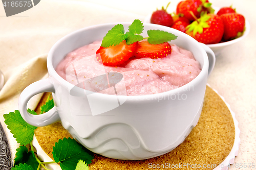
[{"label": "mint sprig lying on the cork mat beside the large bowl", "polygon": [[[54,104],[53,100],[49,100],[50,95],[48,96],[47,102],[44,106],[41,107],[41,113],[47,112],[50,110]],[[28,109],[30,114],[36,114],[34,110]],[[60,143],[55,143],[53,147],[53,162],[41,162],[34,153],[32,139],[34,135],[34,130],[37,127],[29,125],[20,115],[18,110],[10,112],[9,114],[4,114],[5,123],[7,128],[11,130],[13,137],[16,138],[17,142],[20,143],[20,147],[16,149],[16,158],[14,159],[14,166],[11,170],[35,170],[40,169],[40,167],[48,169],[45,164],[49,163],[60,163],[61,169],[88,169],[88,164],[92,161],[93,156],[90,151],[82,147],[75,139],[63,140],[59,139]],[[31,151],[28,151],[28,148],[24,145],[30,143]],[[58,154],[59,153],[59,154]],[[57,155],[56,155],[57,154]],[[81,161],[78,161],[81,159]],[[77,163],[78,162],[78,163]]]}]

